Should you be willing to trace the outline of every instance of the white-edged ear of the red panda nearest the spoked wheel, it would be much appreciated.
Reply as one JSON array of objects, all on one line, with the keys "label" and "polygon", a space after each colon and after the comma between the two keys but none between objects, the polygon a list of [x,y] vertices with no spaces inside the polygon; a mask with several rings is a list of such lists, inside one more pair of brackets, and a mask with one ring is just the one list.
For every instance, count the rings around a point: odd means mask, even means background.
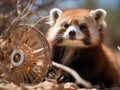
[{"label": "white-edged ear of the red panda nearest the spoked wheel", "polygon": [[58,19],[58,17],[60,16],[61,13],[62,13],[62,11],[60,9],[53,8],[50,11],[50,17],[49,17],[49,21],[47,23],[50,25],[55,24],[56,20]]}]

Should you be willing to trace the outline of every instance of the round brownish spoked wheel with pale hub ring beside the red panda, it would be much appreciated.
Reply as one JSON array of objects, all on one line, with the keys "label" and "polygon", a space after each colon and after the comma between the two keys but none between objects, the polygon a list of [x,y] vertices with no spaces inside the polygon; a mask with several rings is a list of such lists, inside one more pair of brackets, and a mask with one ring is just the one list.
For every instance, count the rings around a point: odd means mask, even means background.
[{"label": "round brownish spoked wheel with pale hub ring beside the red panda", "polygon": [[1,38],[1,76],[15,84],[35,84],[43,80],[50,65],[50,49],[45,37],[30,25],[12,26]]}]

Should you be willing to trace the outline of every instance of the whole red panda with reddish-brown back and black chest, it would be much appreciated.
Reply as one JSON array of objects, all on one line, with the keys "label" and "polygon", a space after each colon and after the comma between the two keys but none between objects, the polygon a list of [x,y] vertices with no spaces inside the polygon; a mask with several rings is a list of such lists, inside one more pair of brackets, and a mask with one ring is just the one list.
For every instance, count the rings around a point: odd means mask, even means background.
[{"label": "whole red panda with reddish-brown back and black chest", "polygon": [[[100,82],[110,87],[119,83],[119,71],[113,53],[103,43],[105,17],[103,9],[54,8],[46,37],[53,61],[74,69],[93,85]],[[69,57],[63,59],[67,54]]]}]

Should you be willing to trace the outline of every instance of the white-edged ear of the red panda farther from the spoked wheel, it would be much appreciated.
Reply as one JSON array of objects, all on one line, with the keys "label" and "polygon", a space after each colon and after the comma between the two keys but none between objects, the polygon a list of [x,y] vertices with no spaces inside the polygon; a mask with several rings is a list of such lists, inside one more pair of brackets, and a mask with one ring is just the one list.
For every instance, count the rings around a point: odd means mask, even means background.
[{"label": "white-edged ear of the red panda farther from the spoked wheel", "polygon": [[90,12],[90,15],[96,20],[98,24],[103,24],[106,17],[106,11],[103,9],[96,9]]}]

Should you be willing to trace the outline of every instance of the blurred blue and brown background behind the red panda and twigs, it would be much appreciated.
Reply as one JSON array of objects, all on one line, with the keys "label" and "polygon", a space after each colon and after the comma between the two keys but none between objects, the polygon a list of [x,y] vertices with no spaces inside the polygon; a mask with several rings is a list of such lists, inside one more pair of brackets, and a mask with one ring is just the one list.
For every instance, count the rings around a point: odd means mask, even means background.
[{"label": "blurred blue and brown background behind the red panda and twigs", "polygon": [[[17,16],[17,0],[0,1],[0,34],[10,25]],[[21,0],[23,9],[28,0]],[[120,45],[120,0],[35,0],[32,11],[26,17],[27,23],[35,23],[39,18],[49,14],[52,8],[103,8],[107,11],[106,22],[108,25],[105,31],[105,43],[112,49],[118,50]]]}]

